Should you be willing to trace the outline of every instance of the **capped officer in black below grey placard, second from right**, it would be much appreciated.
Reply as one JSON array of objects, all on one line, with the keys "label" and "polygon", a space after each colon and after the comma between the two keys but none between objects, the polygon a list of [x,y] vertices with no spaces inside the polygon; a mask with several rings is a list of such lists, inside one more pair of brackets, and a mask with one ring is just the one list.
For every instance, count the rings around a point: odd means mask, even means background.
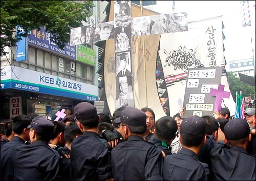
[{"label": "capped officer in black below grey placard, second from right", "polygon": [[164,157],[164,180],[207,180],[208,165],[198,160],[205,143],[206,123],[198,116],[188,117],[180,125],[182,148],[177,154]]}]

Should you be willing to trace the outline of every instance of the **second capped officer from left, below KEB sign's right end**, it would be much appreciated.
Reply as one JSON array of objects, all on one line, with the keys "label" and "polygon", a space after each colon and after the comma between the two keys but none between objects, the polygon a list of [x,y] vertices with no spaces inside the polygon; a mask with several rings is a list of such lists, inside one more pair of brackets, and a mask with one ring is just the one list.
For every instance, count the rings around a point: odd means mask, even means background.
[{"label": "second capped officer from left, below KEB sign's right end", "polygon": [[74,109],[76,122],[82,135],[71,145],[71,179],[111,179],[110,146],[98,134],[99,116],[96,107],[81,102]]}]

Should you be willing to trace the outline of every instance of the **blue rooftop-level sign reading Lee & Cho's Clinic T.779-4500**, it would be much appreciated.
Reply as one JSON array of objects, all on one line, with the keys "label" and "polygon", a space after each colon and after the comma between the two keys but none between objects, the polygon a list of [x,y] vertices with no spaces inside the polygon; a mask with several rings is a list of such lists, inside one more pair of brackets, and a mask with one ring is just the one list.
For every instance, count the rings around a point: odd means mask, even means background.
[{"label": "blue rooftop-level sign reading Lee & Cho's Clinic T.779-4500", "polygon": [[56,43],[51,41],[51,35],[44,28],[41,28],[40,31],[32,30],[28,36],[28,43],[32,46],[40,47],[75,60],[76,47],[70,46],[70,43],[66,43],[64,50],[61,50]]}]

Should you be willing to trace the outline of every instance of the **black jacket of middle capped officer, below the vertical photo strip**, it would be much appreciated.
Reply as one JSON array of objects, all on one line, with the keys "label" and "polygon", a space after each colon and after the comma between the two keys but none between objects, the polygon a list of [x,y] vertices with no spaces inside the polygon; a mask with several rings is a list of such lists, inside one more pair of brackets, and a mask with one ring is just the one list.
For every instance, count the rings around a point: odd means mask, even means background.
[{"label": "black jacket of middle capped officer, below the vertical photo strip", "polygon": [[162,163],[162,153],[138,135],[131,135],[111,151],[114,180],[162,180]]}]

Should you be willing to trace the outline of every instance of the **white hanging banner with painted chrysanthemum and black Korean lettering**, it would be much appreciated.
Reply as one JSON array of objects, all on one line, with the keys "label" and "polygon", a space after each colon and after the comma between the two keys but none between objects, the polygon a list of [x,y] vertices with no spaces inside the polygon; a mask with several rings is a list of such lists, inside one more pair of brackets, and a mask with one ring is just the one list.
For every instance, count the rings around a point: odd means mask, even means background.
[{"label": "white hanging banner with painted chrysanthemum and black Korean lettering", "polygon": [[[180,111],[188,69],[224,66],[222,16],[189,22],[187,32],[162,34],[159,56],[169,98],[170,116]],[[221,84],[227,81],[223,75]],[[225,86],[229,91],[229,87]],[[231,110],[232,97],[225,101]]]}]

